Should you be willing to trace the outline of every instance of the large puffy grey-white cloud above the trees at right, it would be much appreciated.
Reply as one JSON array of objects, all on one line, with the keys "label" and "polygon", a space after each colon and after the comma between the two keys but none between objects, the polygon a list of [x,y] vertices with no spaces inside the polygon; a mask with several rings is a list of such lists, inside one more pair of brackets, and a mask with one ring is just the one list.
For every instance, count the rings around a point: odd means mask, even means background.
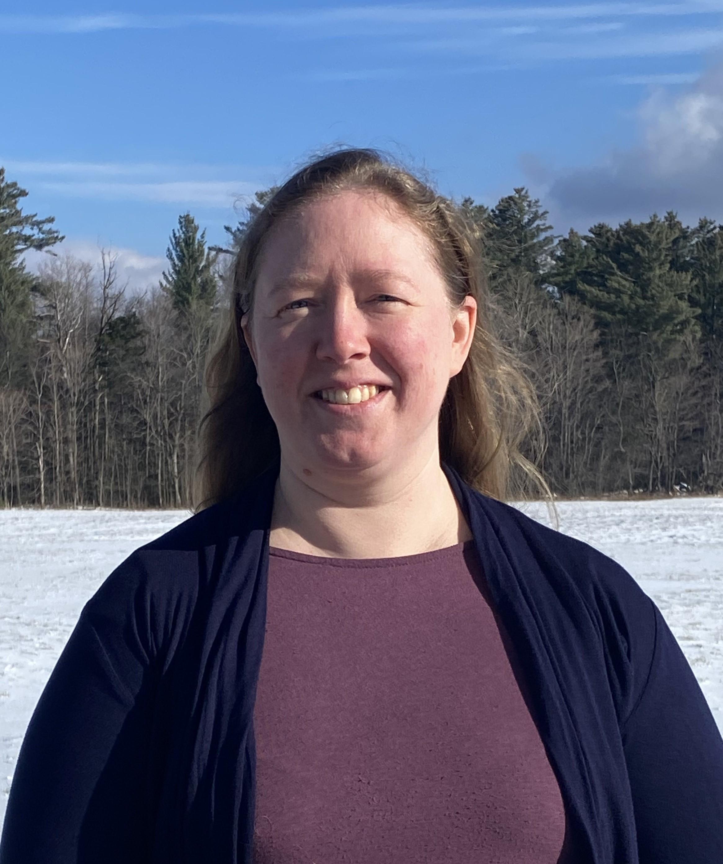
[{"label": "large puffy grey-white cloud above the trees at right", "polygon": [[723,220],[723,63],[684,92],[652,92],[637,120],[636,147],[549,183],[542,194],[561,228],[668,210],[689,224]]}]

